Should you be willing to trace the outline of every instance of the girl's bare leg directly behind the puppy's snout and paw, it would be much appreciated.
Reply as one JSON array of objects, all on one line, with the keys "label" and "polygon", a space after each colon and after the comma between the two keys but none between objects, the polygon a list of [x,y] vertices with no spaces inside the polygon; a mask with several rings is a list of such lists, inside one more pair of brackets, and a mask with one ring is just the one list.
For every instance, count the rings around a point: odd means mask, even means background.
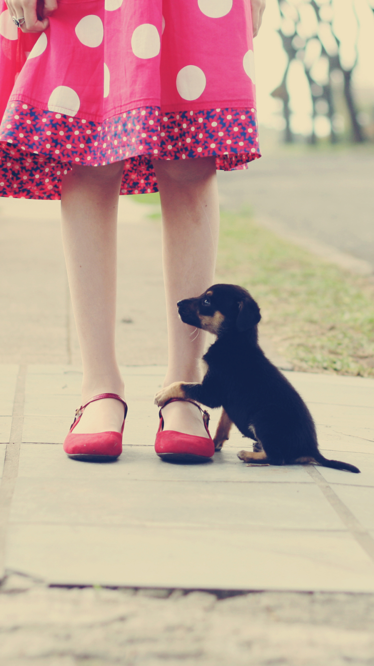
[{"label": "girl's bare leg directly behind the puppy's snout and paw", "polygon": [[[214,280],[219,207],[214,157],[154,161],[162,206],[162,257],[169,362],[164,386],[200,382],[205,334],[178,317],[176,302],[198,296]],[[200,412],[174,402],[163,410],[165,430],[206,436]]]}]

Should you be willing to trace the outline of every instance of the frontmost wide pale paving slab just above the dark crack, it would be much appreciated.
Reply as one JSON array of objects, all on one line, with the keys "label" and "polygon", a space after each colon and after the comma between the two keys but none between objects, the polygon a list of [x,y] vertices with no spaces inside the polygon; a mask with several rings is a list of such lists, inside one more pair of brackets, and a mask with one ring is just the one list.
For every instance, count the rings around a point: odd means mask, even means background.
[{"label": "frontmost wide pale paving slab just above the dark crack", "polygon": [[13,523],[7,565],[66,585],[374,591],[344,531]]}]

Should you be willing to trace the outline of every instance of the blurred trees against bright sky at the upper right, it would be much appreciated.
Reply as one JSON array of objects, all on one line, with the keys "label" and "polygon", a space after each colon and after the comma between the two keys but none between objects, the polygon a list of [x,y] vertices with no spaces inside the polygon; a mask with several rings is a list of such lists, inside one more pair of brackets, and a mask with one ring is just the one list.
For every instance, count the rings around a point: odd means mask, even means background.
[{"label": "blurred trees against bright sky at the upper right", "polygon": [[374,142],[373,45],[374,0],[270,0],[255,41],[260,125],[285,143]]}]

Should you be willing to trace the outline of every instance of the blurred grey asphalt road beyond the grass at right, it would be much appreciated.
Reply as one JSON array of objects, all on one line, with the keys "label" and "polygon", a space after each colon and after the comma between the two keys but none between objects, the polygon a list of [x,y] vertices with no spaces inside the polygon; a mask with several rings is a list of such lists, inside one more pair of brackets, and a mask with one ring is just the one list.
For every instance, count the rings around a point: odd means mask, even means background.
[{"label": "blurred grey asphalt road beyond the grass at right", "polygon": [[374,148],[265,150],[248,170],[219,180],[225,208],[250,206],[374,264]]}]

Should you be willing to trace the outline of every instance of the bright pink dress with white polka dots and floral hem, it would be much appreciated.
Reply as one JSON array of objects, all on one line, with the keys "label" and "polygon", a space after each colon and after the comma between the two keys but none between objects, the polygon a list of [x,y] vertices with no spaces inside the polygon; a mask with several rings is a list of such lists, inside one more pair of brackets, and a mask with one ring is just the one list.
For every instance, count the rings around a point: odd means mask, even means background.
[{"label": "bright pink dress with white polka dots and floral hem", "polygon": [[260,157],[250,0],[60,0],[24,35],[0,0],[0,196],[58,199],[72,163]]}]

